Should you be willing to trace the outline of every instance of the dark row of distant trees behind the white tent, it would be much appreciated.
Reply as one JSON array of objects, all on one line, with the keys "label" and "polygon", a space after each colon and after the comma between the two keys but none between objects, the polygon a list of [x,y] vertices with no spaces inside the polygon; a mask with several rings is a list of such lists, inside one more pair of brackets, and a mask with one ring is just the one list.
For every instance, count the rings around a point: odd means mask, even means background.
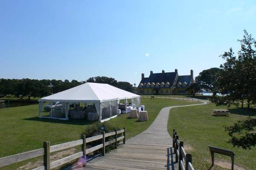
[{"label": "dark row of distant trees behind the white tent", "polygon": [[23,99],[24,96],[44,97],[55,94],[67,89],[76,87],[86,82],[107,83],[125,91],[133,92],[132,85],[129,82],[118,82],[111,77],[90,77],[86,81],[56,80],[56,79],[0,79],[0,97],[6,95],[16,96]]}]

